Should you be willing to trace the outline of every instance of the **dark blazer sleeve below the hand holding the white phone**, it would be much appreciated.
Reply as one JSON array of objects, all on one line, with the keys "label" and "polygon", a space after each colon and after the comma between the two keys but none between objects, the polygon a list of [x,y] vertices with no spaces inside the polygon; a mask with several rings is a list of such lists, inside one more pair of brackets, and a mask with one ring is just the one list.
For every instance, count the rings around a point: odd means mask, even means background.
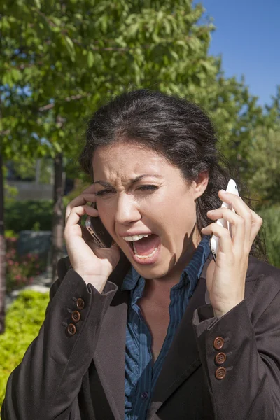
[{"label": "dark blazer sleeve below the hand holding the white phone", "polygon": [[246,300],[221,318],[214,317],[211,304],[195,310],[193,326],[215,420],[280,419],[279,281],[270,290],[269,279],[262,282],[256,303],[262,311],[249,313]]}]

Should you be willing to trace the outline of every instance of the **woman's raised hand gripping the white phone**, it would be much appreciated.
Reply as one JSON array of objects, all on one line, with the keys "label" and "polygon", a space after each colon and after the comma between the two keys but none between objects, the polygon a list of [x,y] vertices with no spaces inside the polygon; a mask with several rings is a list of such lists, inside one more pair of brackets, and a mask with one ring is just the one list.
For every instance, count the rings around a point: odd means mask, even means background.
[{"label": "woman's raised hand gripping the white phone", "polygon": [[207,269],[207,290],[215,316],[221,317],[244,300],[248,255],[262,225],[262,218],[237,195],[221,190],[219,197],[231,204],[236,213],[220,208],[209,211],[207,216],[214,221],[224,218],[230,222],[232,237],[229,230],[218,223],[203,228],[202,234],[219,237],[216,263],[211,261]]}]

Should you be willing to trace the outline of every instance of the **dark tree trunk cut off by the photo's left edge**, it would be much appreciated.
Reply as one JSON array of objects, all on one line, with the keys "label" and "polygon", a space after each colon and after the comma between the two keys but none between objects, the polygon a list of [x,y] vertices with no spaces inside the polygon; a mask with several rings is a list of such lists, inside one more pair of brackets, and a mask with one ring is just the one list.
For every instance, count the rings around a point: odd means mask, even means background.
[{"label": "dark tree trunk cut off by the photo's left edge", "polygon": [[0,334],[5,331],[6,246],[4,236],[3,158],[0,153]]}]

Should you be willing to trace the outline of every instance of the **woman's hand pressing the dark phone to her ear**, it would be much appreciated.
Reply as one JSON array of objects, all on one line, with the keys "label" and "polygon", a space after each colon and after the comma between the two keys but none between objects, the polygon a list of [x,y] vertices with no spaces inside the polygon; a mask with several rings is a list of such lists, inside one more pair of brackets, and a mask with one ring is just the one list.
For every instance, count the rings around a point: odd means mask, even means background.
[{"label": "woman's hand pressing the dark phone to her ear", "polygon": [[91,283],[102,293],[109,275],[120,260],[120,248],[117,244],[111,248],[99,248],[90,232],[80,225],[80,218],[85,214],[99,216],[98,210],[87,204],[95,202],[95,198],[94,186],[90,186],[69,202],[64,237],[71,267],[86,283]]}]

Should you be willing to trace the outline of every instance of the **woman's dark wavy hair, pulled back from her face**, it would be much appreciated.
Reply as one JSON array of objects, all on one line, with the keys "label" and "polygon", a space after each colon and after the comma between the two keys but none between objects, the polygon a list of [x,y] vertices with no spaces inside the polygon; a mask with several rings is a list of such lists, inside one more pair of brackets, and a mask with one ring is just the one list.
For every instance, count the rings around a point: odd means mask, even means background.
[{"label": "woman's dark wavy hair, pulled back from her face", "polygon": [[[200,106],[174,96],[151,90],[126,92],[99,108],[87,125],[86,142],[79,163],[86,174],[93,176],[92,157],[99,146],[118,141],[140,144],[160,153],[181,169],[186,181],[193,181],[200,172],[209,172],[209,183],[197,199],[197,228],[211,221],[207,211],[221,206],[218,190],[225,189],[232,171],[218,150],[215,127]],[[234,174],[235,179],[239,179]],[[240,187],[240,181],[238,181]],[[260,251],[257,239],[254,255]]]}]

